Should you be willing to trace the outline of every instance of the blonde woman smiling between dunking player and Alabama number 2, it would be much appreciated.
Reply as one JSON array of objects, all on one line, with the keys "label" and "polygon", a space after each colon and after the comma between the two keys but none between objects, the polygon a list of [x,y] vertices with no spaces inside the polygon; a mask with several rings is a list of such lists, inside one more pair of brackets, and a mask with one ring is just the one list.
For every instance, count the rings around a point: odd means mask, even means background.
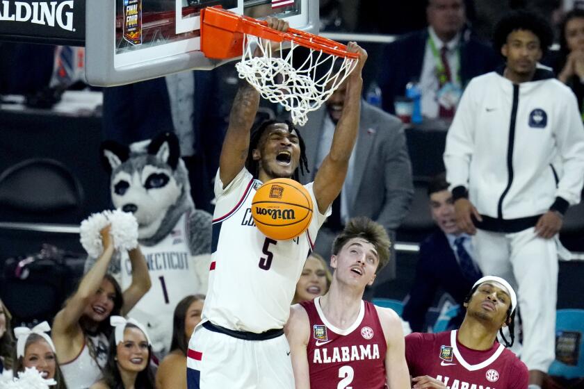
[{"label": "blonde woman smiling between dunking player and Alabama number 2", "polygon": [[314,297],[324,295],[328,292],[331,281],[332,275],[323,257],[316,253],[311,253],[302,269],[300,279],[296,283],[296,292],[294,293],[292,304],[311,301]]}]

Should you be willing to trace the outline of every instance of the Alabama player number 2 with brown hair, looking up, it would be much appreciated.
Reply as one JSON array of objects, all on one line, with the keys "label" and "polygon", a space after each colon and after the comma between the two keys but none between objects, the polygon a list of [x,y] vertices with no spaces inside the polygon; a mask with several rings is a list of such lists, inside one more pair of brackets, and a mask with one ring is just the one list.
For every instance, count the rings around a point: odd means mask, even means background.
[{"label": "Alabama player number 2 with brown hair, looking up", "polygon": [[293,305],[285,327],[296,389],[409,388],[400,318],[362,299],[390,245],[366,217],[349,220],[334,240],[329,291]]}]

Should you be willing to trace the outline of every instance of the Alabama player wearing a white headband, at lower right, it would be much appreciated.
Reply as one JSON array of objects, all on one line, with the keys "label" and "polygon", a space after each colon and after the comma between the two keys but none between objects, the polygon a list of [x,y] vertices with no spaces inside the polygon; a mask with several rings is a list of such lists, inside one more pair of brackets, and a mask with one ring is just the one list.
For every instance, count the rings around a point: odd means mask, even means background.
[{"label": "Alabama player wearing a white headband, at lower right", "polygon": [[[476,281],[464,301],[467,314],[458,331],[412,333],[405,338],[405,358],[412,388],[526,389],[526,365],[512,351],[517,297],[496,276]],[[511,341],[503,326],[510,327]],[[497,331],[505,346],[496,340]]]}]

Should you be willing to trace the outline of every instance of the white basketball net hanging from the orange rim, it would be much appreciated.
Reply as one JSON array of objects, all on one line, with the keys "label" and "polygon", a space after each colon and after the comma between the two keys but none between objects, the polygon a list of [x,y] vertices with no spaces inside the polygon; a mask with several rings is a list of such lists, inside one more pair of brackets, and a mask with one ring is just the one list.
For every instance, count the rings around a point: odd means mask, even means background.
[{"label": "white basketball net hanging from the orange rim", "polygon": [[[253,85],[264,99],[282,104],[291,113],[292,122],[304,126],[307,113],[320,108],[339,88],[357,65],[357,60],[309,49],[308,58],[295,68],[293,53],[300,45],[291,42],[290,51],[284,56],[283,44],[279,44],[279,52],[273,53],[269,40],[245,34],[243,56],[236,68],[239,77]],[[254,56],[256,47],[261,51],[259,56]],[[342,61],[341,66],[333,71],[336,61]],[[328,71],[323,72],[324,75],[317,74],[319,66],[328,68]]]}]

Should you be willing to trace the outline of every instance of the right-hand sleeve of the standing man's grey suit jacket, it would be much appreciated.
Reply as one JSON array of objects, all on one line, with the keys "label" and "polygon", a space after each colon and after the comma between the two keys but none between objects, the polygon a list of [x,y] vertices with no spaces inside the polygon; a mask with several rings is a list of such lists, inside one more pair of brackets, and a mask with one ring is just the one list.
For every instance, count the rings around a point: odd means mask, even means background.
[{"label": "right-hand sleeve of the standing man's grey suit jacket", "polygon": [[394,142],[387,146],[387,154],[385,154],[385,204],[376,222],[382,224],[387,230],[395,231],[406,217],[409,206],[412,204],[414,184],[403,126],[398,129],[387,129],[387,131],[397,131],[398,133]]}]

